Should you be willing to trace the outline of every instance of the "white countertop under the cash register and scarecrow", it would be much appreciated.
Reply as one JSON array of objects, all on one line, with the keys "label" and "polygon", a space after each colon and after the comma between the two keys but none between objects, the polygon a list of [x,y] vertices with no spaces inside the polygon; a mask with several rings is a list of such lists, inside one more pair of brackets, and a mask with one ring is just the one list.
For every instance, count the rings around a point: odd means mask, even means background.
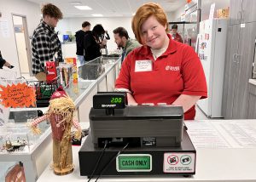
[{"label": "white countertop under the cash register and scarecrow", "polygon": [[[223,121],[223,123],[221,123]],[[227,122],[227,120],[219,120],[215,124],[214,121],[200,121],[200,122],[190,122],[187,124],[189,130],[191,130],[192,134],[196,134],[196,130],[201,128],[202,132],[199,132],[198,136],[205,132],[207,134],[207,129],[212,128],[212,130],[218,131],[217,133],[220,137],[225,138],[228,143],[232,144],[234,141],[232,140],[232,134],[237,134],[236,131],[244,130],[250,131],[250,137],[253,139],[253,145],[256,145],[256,120],[234,120],[234,126],[231,123],[233,121]],[[236,123],[237,121],[237,123]],[[242,123],[244,121],[244,124]],[[210,123],[208,125],[208,123]],[[206,128],[207,125],[207,128]],[[229,126],[228,126],[229,125]],[[233,129],[233,127],[235,127]],[[226,130],[229,128],[230,131]],[[241,132],[241,137],[242,133]],[[194,133],[193,133],[194,132]],[[239,133],[239,132],[238,132]],[[191,133],[190,133],[191,134]],[[228,136],[229,135],[229,136]],[[196,140],[196,136],[191,137]],[[241,139],[242,140],[242,139]],[[237,139],[237,142],[241,140]],[[205,140],[204,142],[207,142]],[[209,140],[211,141],[211,139]],[[212,142],[212,141],[211,141]],[[210,182],[210,181],[236,181],[236,182],[244,182],[244,181],[256,181],[256,146],[241,146],[237,147],[236,145],[230,145],[224,148],[218,148],[218,146],[199,146],[196,148],[196,169],[195,175],[189,178],[185,177],[112,177],[112,178],[100,178],[98,181],[104,182],[120,182],[120,181],[200,181],[200,182]],[[236,146],[236,147],[234,147]],[[44,181],[87,181],[87,177],[80,176],[79,172],[79,146],[73,146],[73,163],[75,165],[73,173],[67,174],[65,176],[57,176],[50,169],[50,165],[44,170],[44,173],[39,177],[38,182]],[[88,163],[88,165],[94,165]],[[95,181],[92,179],[91,181]]]}]

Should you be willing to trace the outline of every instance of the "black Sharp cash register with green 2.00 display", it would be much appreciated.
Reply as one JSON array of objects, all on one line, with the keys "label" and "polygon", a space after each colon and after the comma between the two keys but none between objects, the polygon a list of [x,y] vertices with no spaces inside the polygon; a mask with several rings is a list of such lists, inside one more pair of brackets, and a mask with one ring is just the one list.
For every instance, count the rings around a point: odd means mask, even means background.
[{"label": "black Sharp cash register with green 2.00 display", "polygon": [[126,105],[125,93],[98,93],[90,134],[79,151],[80,175],[170,176],[195,174],[195,147],[174,105]]}]

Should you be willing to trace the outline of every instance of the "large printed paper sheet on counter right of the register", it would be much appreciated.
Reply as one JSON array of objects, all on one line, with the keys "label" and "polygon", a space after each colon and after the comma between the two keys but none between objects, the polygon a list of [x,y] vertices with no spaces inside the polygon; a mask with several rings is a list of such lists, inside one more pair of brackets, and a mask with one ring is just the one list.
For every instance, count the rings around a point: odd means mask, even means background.
[{"label": "large printed paper sheet on counter right of the register", "polygon": [[186,122],[195,148],[256,148],[256,120]]}]

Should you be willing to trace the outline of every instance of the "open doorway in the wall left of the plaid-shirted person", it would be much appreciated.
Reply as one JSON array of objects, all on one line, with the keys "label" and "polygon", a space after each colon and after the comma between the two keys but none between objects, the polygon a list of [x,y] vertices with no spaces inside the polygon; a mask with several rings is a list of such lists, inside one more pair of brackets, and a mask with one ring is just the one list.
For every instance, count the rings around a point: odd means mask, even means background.
[{"label": "open doorway in the wall left of the plaid-shirted person", "polygon": [[15,43],[21,76],[32,76],[32,53],[28,36],[26,16],[12,14],[15,31]]}]

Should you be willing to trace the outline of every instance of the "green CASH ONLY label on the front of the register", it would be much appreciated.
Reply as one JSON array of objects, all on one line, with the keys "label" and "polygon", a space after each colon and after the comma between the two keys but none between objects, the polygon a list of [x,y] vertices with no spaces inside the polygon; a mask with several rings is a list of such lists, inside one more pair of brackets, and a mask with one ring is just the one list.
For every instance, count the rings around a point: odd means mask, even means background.
[{"label": "green CASH ONLY label on the front of the register", "polygon": [[149,172],[152,170],[152,156],[148,154],[121,154],[117,157],[118,172]]}]

